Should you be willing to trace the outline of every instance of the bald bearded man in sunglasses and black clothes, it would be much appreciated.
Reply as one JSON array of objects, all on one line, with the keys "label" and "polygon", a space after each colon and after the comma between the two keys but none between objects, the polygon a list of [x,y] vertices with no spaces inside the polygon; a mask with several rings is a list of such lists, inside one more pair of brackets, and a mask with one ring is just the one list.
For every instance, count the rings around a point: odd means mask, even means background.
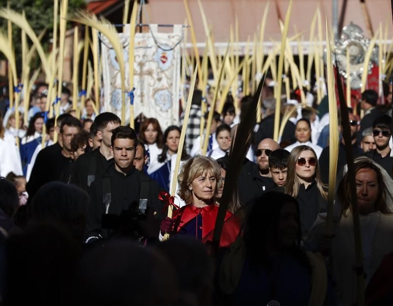
[{"label": "bald bearded man in sunglasses and black clothes", "polygon": [[279,144],[270,138],[258,143],[255,151],[258,168],[252,169],[250,174],[240,176],[238,180],[239,199],[242,205],[275,187],[269,171],[269,155],[277,149],[280,149]]}]

